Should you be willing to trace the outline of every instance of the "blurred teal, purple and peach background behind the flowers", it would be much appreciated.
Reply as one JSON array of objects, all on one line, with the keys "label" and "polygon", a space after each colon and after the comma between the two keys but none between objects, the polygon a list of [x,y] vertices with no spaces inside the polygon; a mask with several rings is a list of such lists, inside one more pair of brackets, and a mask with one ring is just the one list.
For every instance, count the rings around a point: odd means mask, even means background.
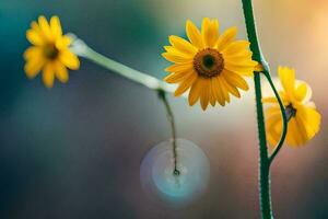
[{"label": "blurred teal, purple and peach background behind the flowers", "polygon": [[[328,218],[328,1],[255,0],[263,53],[272,74],[294,67],[313,88],[320,132],[305,147],[284,147],[272,166],[277,218]],[[156,94],[82,59],[67,84],[28,80],[25,31],[39,14],[61,19],[95,50],[163,78],[167,36],[185,36],[185,22],[218,18],[238,26],[239,0],[1,0],[0,218],[157,219],[259,218],[257,132],[253,91],[203,113],[173,99],[178,136],[209,157],[208,192],[183,209],[159,206],[140,186],[139,168],[154,145],[169,138]],[[251,82],[251,81],[250,81]],[[253,85],[253,83],[251,83]]]}]

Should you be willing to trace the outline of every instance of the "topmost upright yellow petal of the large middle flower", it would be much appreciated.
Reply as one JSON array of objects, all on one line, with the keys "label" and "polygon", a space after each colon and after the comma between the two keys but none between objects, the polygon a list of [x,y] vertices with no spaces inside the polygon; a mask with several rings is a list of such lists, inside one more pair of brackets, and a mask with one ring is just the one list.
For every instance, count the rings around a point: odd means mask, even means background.
[{"label": "topmost upright yellow petal of the large middle flower", "polygon": [[202,20],[201,35],[204,46],[214,47],[219,38],[219,22],[218,20],[211,21],[209,18]]}]

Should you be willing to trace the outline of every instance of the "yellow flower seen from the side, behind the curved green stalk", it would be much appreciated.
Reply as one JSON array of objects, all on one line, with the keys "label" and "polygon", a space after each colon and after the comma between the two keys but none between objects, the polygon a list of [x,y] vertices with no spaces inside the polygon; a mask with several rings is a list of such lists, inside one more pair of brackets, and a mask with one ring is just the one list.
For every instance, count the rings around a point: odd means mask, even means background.
[{"label": "yellow flower seen from the side, behind the curved green stalk", "polygon": [[[318,131],[321,116],[316,106],[311,102],[312,90],[304,81],[295,80],[294,69],[279,67],[278,74],[283,90],[280,97],[285,106],[285,114],[289,119],[286,142],[290,146],[301,146],[311,140]],[[269,103],[266,110],[267,137],[270,145],[274,146],[280,139],[282,119],[277,99],[265,97]]]}]

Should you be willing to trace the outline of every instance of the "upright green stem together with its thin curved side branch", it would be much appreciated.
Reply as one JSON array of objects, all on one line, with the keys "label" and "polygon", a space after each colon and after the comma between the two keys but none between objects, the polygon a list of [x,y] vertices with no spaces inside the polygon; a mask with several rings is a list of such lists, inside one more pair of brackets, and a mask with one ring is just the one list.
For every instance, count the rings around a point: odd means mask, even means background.
[{"label": "upright green stem together with its thin curved side branch", "polygon": [[267,137],[266,137],[266,126],[263,118],[263,107],[261,102],[261,83],[260,83],[260,72],[254,72],[254,83],[255,83],[255,95],[256,95],[256,110],[257,110],[257,124],[258,124],[258,138],[259,138],[259,198],[260,198],[260,209],[262,219],[273,218],[272,205],[271,205],[271,192],[270,192],[270,164],[281,149],[285,135],[286,135],[286,116],[284,112],[283,103],[277,92],[277,89],[273,85],[273,82],[270,77],[269,66],[265,60],[256,33],[255,19],[253,14],[251,0],[242,0],[243,11],[246,23],[246,31],[248,39],[250,42],[250,50],[253,51],[253,59],[258,61],[263,67],[263,74],[268,79],[278,103],[280,105],[282,120],[283,120],[283,131],[281,139],[276,147],[273,153],[268,155],[267,148]]}]

